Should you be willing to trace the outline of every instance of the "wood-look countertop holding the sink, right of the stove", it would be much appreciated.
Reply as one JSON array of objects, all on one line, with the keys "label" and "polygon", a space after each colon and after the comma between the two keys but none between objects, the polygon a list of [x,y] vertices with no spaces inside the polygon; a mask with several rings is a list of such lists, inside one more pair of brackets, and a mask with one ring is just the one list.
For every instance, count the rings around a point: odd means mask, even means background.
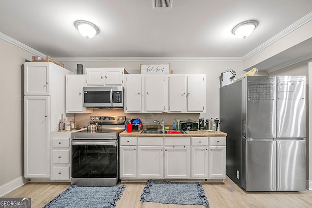
[{"label": "wood-look countertop holding the sink, right of the stove", "polygon": [[191,136],[227,136],[225,132],[206,132],[206,130],[189,131],[187,133],[141,133],[143,130],[128,133],[123,131],[119,136],[157,136],[157,137],[191,137]]}]

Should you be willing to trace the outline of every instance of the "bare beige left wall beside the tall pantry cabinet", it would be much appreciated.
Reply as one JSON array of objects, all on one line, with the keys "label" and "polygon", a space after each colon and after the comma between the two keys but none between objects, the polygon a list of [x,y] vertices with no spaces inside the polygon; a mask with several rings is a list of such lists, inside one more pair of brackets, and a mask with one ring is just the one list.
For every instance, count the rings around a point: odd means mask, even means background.
[{"label": "bare beige left wall beside the tall pantry cabinet", "polygon": [[[24,175],[21,65],[31,53],[0,39],[0,188]],[[18,182],[19,183],[19,182]],[[1,195],[1,193],[0,193]]]}]

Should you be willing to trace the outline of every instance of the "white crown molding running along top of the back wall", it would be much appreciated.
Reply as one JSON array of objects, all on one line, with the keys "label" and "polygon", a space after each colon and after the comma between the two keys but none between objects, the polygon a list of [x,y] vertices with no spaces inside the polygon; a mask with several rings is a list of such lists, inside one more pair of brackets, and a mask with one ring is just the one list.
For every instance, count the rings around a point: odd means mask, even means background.
[{"label": "white crown molding running along top of the back wall", "polygon": [[55,57],[59,61],[242,61],[241,57]]}]

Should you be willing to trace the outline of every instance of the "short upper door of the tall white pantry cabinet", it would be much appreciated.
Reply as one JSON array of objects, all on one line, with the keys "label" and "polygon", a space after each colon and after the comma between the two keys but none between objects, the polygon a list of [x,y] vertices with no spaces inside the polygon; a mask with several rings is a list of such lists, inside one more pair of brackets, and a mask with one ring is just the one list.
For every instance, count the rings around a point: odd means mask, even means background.
[{"label": "short upper door of the tall white pantry cabinet", "polygon": [[50,65],[25,65],[25,95],[51,95]]}]

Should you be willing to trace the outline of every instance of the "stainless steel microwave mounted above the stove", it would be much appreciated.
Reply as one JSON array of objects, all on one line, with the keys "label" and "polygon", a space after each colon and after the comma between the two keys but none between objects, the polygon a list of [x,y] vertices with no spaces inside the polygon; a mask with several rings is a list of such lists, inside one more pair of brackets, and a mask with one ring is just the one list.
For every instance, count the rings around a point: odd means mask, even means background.
[{"label": "stainless steel microwave mounted above the stove", "polygon": [[85,108],[123,108],[122,86],[83,87]]}]

